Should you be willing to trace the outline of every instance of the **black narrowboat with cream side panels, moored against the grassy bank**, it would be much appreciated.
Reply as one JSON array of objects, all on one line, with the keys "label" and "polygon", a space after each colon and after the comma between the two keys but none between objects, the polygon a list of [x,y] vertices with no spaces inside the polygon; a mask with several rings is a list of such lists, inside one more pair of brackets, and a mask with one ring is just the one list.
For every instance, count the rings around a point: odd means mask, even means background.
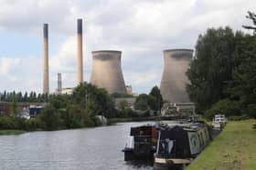
[{"label": "black narrowboat with cream side panels, moored against the grassy bank", "polygon": [[168,126],[158,134],[155,169],[190,164],[210,139],[208,125],[204,122]]}]

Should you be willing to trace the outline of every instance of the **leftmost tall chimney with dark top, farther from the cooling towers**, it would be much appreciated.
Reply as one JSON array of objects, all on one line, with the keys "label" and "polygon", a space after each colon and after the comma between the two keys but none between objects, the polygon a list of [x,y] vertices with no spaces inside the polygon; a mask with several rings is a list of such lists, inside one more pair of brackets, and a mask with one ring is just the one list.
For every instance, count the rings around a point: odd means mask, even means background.
[{"label": "leftmost tall chimney with dark top, farther from the cooling towers", "polygon": [[44,83],[43,94],[48,95],[48,24],[44,24]]}]

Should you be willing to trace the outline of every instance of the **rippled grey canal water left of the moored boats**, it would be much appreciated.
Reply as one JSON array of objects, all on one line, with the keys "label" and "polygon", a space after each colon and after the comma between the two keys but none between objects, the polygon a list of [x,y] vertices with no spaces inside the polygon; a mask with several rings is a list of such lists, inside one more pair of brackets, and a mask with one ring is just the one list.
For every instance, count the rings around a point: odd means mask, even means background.
[{"label": "rippled grey canal water left of the moored boats", "polygon": [[0,169],[151,170],[123,161],[130,127],[143,124],[0,135]]}]

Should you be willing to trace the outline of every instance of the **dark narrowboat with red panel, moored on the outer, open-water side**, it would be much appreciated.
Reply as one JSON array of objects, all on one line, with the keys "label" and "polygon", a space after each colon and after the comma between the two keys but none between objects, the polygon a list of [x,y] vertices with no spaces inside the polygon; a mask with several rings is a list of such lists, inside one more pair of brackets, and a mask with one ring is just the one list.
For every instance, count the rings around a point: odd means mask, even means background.
[{"label": "dark narrowboat with red panel, moored on the outer, open-water side", "polygon": [[124,161],[154,160],[157,137],[166,125],[141,125],[131,127],[130,135],[123,149]]}]

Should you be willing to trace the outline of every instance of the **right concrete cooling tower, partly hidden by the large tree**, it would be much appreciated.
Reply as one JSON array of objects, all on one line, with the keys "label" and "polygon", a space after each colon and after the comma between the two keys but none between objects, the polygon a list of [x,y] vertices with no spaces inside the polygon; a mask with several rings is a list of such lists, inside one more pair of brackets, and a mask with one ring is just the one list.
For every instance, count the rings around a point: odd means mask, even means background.
[{"label": "right concrete cooling tower, partly hidden by the large tree", "polygon": [[171,103],[187,103],[187,68],[193,56],[191,49],[171,49],[164,51],[165,67],[161,81],[163,99]]}]

